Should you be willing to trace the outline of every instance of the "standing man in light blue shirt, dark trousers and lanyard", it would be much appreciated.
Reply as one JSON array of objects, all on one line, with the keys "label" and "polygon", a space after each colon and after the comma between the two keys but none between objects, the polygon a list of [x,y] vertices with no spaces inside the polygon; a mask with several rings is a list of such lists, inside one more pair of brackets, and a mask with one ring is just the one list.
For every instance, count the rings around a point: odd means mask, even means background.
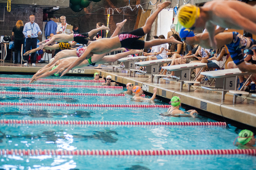
[{"label": "standing man in light blue shirt, dark trousers and lanyard", "polygon": [[[23,29],[23,34],[26,37],[26,52],[29,51],[30,49],[35,49],[37,45],[37,38],[38,35],[42,34],[38,24],[36,24],[35,21],[35,16],[30,15],[29,16],[30,22],[26,23]],[[29,55],[24,55],[24,60],[28,61],[28,56]],[[36,66],[36,52],[32,53],[31,55],[31,64],[32,66]],[[24,66],[27,66],[27,63],[24,63]]]}]

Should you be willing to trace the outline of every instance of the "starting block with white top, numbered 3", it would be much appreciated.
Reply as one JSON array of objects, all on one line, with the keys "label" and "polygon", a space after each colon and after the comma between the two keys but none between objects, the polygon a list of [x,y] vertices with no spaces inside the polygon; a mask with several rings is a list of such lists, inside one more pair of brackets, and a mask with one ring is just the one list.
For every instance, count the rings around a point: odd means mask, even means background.
[{"label": "starting block with white top, numbered 3", "polygon": [[151,82],[153,82],[154,75],[156,75],[159,72],[161,65],[170,62],[172,62],[172,59],[169,58],[137,62],[135,63],[136,65],[146,66],[146,71],[143,71],[143,73],[137,72],[136,74],[152,75]]}]

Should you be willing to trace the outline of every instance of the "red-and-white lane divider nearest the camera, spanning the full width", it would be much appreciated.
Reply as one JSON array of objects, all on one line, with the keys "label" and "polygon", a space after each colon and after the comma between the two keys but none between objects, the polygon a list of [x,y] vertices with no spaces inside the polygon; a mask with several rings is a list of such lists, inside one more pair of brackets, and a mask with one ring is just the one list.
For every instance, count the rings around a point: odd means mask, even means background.
[{"label": "red-and-white lane divider nearest the camera, spanning the full width", "polygon": [[37,150],[2,149],[1,155],[37,156],[37,155],[106,155],[106,156],[160,156],[160,155],[256,155],[256,149],[208,149],[208,150]]}]

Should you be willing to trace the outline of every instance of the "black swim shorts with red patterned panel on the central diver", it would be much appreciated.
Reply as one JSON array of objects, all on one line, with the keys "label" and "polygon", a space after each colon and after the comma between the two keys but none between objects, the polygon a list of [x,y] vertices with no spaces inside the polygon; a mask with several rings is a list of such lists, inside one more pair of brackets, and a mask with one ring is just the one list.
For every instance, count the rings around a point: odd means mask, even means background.
[{"label": "black swim shorts with red patterned panel on the central diver", "polygon": [[142,28],[134,30],[132,32],[122,32],[118,35],[121,47],[128,49],[144,49],[145,42],[138,40],[145,35]]}]

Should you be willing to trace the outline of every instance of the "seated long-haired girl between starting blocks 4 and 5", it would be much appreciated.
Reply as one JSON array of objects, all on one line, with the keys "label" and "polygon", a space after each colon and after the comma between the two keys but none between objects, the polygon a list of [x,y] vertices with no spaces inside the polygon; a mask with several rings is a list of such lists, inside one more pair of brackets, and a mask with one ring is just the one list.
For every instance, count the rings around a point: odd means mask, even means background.
[{"label": "seated long-haired girl between starting blocks 4 and 5", "polygon": [[[222,48],[217,49],[215,54],[216,54],[216,56],[214,56],[210,59],[202,59],[201,60],[201,63],[207,63],[206,67],[204,67],[202,69],[202,72],[204,72],[206,69],[209,69],[209,68],[218,68],[218,69],[220,69],[224,66],[224,63],[225,63],[226,58],[228,56],[226,48],[222,47]],[[196,68],[196,75],[198,74],[200,69],[201,68]],[[203,77],[204,77],[203,75],[200,75],[196,79],[196,81],[201,82]],[[194,85],[197,85],[197,84],[194,84]]]}]

